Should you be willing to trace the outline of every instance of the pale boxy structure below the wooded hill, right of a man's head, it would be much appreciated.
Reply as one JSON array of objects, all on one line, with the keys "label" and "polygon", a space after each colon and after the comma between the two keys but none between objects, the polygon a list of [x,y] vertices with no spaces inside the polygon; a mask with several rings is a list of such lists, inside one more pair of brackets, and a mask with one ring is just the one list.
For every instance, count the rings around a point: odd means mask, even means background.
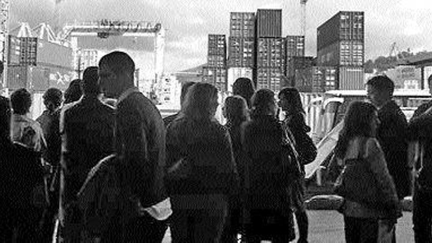
[{"label": "pale boxy structure below the wooded hill, right of a man's head", "polygon": [[385,74],[395,83],[395,89],[421,88],[421,69],[415,66],[397,66]]}]

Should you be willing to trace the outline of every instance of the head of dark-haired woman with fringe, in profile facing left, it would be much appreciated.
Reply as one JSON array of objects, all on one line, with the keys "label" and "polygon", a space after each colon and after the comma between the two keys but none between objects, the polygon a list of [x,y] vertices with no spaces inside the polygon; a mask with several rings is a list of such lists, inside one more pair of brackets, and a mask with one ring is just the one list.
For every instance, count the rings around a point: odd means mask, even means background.
[{"label": "head of dark-haired woman with fringe, in profile facing left", "polygon": [[296,88],[283,88],[279,94],[279,107],[289,114],[296,112],[304,113],[303,105],[301,104],[300,93]]}]

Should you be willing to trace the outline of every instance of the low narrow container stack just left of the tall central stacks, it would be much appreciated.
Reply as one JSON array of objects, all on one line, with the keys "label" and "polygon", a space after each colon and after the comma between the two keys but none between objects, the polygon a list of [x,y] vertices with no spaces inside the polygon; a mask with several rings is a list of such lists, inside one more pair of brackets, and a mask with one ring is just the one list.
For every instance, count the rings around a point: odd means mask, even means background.
[{"label": "low narrow container stack just left of the tall central stacks", "polygon": [[209,34],[207,66],[203,67],[203,82],[208,82],[225,92],[227,90],[226,38],[223,34]]}]

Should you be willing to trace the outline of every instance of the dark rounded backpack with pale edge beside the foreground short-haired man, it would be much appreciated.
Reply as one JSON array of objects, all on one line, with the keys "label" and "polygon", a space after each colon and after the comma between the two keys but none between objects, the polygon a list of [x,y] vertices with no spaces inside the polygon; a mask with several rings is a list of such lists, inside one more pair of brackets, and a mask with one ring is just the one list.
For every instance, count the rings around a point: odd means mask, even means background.
[{"label": "dark rounded backpack with pale edge beside the foreground short-haired man", "polygon": [[101,236],[113,220],[122,225],[139,216],[139,201],[132,200],[131,190],[122,185],[121,169],[120,161],[110,155],[88,173],[77,194],[82,235]]}]

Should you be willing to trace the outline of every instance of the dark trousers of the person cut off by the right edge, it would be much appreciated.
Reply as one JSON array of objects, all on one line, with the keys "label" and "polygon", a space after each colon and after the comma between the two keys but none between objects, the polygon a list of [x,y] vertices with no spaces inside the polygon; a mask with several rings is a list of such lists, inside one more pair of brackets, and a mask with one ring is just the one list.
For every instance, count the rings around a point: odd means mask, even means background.
[{"label": "dark trousers of the person cut off by the right edge", "polygon": [[418,182],[415,182],[412,201],[415,242],[432,243],[432,189],[421,188]]}]

